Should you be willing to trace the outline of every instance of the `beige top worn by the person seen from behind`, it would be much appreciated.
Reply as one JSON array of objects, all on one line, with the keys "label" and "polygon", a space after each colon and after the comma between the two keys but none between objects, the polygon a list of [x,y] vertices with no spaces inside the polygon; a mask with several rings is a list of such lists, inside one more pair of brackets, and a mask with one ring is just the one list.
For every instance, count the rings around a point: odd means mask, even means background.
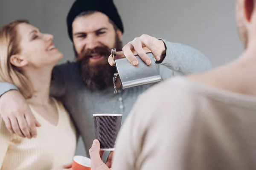
[{"label": "beige top worn by the person seen from behind", "polygon": [[255,113],[256,97],[170,79],[140,96],[113,169],[255,169]]}]

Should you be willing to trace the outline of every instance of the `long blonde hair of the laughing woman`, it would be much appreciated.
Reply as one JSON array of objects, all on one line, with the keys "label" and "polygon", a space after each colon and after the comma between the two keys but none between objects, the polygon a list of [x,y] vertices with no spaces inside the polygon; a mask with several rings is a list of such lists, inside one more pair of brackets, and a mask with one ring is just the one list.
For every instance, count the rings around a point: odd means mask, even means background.
[{"label": "long blonde hair of the laughing woman", "polygon": [[0,81],[15,85],[20,93],[28,99],[32,97],[31,84],[20,69],[10,62],[10,57],[21,51],[20,35],[17,31],[17,26],[21,23],[29,24],[29,21],[15,20],[0,30]]}]

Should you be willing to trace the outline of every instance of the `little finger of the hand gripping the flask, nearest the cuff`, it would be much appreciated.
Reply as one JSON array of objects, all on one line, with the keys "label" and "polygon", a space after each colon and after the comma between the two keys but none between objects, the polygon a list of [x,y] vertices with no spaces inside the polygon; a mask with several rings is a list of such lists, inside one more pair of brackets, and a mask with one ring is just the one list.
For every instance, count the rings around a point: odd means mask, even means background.
[{"label": "little finger of the hand gripping the flask, nearest the cuff", "polygon": [[156,38],[143,34],[141,41],[152,52],[157,61],[161,59],[162,51],[159,50],[159,41]]}]

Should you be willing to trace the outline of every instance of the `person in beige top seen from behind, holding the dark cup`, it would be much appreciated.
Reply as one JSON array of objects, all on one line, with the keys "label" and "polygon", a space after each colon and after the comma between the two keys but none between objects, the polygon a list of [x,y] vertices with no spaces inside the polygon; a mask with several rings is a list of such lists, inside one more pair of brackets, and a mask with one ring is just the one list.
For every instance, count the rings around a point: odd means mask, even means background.
[{"label": "person in beige top seen from behind, holding the dark cup", "polygon": [[[119,133],[112,170],[256,169],[256,0],[237,7],[245,52],[142,94]],[[97,149],[95,141],[93,167]]]}]

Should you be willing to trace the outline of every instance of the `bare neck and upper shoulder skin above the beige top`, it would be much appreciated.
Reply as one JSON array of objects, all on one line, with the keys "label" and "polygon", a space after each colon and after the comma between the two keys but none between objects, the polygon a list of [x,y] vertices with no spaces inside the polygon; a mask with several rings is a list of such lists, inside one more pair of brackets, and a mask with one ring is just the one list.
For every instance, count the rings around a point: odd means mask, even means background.
[{"label": "bare neck and upper shoulder skin above the beige top", "polygon": [[214,88],[256,96],[255,73],[256,50],[250,48],[233,62],[188,78]]}]

